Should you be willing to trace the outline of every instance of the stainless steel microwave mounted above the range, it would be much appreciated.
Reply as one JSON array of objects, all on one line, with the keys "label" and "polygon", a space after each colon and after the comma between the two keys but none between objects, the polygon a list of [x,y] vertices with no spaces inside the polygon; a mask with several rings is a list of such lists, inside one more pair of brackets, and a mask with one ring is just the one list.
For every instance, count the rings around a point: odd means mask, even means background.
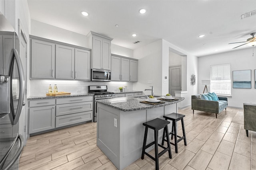
[{"label": "stainless steel microwave mounted above the range", "polygon": [[103,81],[110,82],[111,80],[111,71],[92,68],[92,81]]}]

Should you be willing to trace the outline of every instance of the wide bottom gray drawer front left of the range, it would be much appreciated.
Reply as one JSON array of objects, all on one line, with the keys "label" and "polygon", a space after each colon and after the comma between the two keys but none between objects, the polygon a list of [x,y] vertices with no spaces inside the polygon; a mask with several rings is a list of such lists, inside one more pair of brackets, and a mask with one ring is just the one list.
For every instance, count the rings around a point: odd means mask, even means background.
[{"label": "wide bottom gray drawer front left of the range", "polygon": [[56,117],[56,127],[62,127],[66,125],[72,125],[84,121],[92,120],[92,111],[86,111],[82,113],[76,113],[72,115],[64,115]]}]

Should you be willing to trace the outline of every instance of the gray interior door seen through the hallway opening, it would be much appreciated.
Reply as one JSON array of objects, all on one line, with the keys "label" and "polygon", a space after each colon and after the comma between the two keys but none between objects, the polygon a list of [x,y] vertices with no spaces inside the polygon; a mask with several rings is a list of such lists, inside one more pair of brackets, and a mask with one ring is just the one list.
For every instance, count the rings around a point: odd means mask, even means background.
[{"label": "gray interior door seen through the hallway opening", "polygon": [[169,67],[169,94],[175,96],[174,91],[181,91],[181,66]]}]

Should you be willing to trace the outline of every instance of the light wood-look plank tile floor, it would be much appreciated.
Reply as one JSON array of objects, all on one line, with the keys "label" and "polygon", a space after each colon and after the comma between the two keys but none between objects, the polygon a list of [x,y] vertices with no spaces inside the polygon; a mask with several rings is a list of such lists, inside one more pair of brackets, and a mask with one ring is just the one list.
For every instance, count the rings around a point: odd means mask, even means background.
[{"label": "light wood-look plank tile floor", "polygon": [[[244,125],[231,122],[238,111],[228,107],[215,114],[180,109],[186,115],[184,124],[187,146],[178,143],[178,154],[172,147],[159,158],[162,170],[256,170],[256,132],[246,137]],[[179,121],[180,123],[180,121]],[[20,157],[20,170],[116,170],[112,162],[96,146],[96,123],[85,123],[32,136]],[[179,133],[182,133],[178,124]],[[182,135],[182,134],[178,134]],[[166,145],[166,144],[165,144]],[[159,147],[159,150],[161,148]],[[154,150],[150,151],[154,155]],[[155,163],[145,155],[126,170],[154,170]]]}]

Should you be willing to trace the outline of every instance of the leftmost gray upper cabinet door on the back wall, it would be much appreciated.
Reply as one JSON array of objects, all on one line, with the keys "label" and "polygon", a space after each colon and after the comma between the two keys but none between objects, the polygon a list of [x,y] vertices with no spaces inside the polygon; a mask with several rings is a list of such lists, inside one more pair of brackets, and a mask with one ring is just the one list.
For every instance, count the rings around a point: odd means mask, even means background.
[{"label": "leftmost gray upper cabinet door on the back wall", "polygon": [[31,41],[31,78],[54,78],[55,45],[40,40]]}]

